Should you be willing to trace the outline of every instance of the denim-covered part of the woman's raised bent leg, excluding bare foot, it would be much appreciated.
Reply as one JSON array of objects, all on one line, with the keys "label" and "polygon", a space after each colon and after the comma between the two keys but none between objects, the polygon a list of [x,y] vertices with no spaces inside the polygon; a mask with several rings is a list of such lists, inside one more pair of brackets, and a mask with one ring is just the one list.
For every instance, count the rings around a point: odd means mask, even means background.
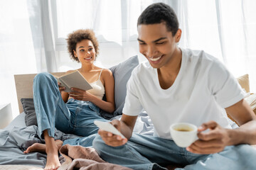
[{"label": "denim-covered part of the woman's raised bent leg, excluding bare foot", "polygon": [[54,137],[55,127],[62,132],[71,131],[70,111],[61,97],[58,82],[52,74],[36,75],[33,80],[33,101],[39,135],[47,130],[48,135]]}]

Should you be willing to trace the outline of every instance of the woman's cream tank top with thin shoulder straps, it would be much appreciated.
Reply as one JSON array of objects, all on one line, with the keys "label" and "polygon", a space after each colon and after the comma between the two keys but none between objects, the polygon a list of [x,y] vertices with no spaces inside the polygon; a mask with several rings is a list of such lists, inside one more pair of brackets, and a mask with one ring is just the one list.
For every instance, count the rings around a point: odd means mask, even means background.
[{"label": "woman's cream tank top with thin shoulder straps", "polygon": [[[100,75],[102,74],[102,70],[100,71]],[[90,85],[92,86],[92,89],[88,90],[88,92],[97,96],[97,98],[102,99],[105,94],[105,87],[103,86],[102,81],[100,81],[100,76],[97,81],[90,83]]]}]

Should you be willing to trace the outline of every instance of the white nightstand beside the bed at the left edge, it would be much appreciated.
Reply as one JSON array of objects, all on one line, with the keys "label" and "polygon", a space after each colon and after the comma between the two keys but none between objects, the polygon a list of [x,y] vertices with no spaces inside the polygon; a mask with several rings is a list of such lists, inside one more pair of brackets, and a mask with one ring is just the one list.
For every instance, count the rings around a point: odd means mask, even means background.
[{"label": "white nightstand beside the bed at the left edge", "polygon": [[0,129],[5,128],[12,120],[11,103],[0,105]]}]

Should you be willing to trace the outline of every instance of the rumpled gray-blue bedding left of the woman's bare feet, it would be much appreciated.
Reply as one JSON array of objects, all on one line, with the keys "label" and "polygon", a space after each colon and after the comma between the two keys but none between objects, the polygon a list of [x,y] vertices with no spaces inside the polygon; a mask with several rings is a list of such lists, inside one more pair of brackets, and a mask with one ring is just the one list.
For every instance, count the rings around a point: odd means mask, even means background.
[{"label": "rumpled gray-blue bedding left of the woman's bare feet", "polygon": [[23,151],[35,142],[42,142],[37,135],[37,127],[13,128],[0,131],[0,164],[23,164],[45,166],[46,154]]}]

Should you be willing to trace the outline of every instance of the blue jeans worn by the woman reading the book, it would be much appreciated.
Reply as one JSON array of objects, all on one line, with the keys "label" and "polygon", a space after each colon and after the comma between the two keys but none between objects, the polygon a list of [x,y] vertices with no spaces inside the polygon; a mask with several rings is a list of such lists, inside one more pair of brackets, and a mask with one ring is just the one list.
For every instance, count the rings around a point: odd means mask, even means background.
[{"label": "blue jeans worn by the woman reading the book", "polygon": [[54,137],[57,128],[64,133],[87,137],[97,133],[94,120],[107,121],[100,117],[100,108],[90,101],[71,98],[65,103],[57,80],[49,73],[40,73],[34,78],[33,101],[41,136],[43,130],[48,130],[48,135]]}]

